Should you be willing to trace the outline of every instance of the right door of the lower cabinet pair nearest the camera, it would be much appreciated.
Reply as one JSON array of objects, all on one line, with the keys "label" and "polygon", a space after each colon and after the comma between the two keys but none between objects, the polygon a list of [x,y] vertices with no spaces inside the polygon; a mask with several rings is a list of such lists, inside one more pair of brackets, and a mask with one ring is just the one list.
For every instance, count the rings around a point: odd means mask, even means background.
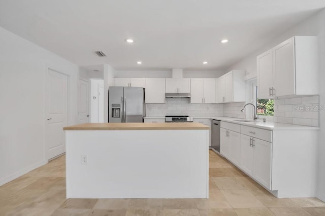
[{"label": "right door of the lower cabinet pair nearest the camera", "polygon": [[271,190],[272,144],[252,138],[252,145],[254,148],[253,177]]}]

